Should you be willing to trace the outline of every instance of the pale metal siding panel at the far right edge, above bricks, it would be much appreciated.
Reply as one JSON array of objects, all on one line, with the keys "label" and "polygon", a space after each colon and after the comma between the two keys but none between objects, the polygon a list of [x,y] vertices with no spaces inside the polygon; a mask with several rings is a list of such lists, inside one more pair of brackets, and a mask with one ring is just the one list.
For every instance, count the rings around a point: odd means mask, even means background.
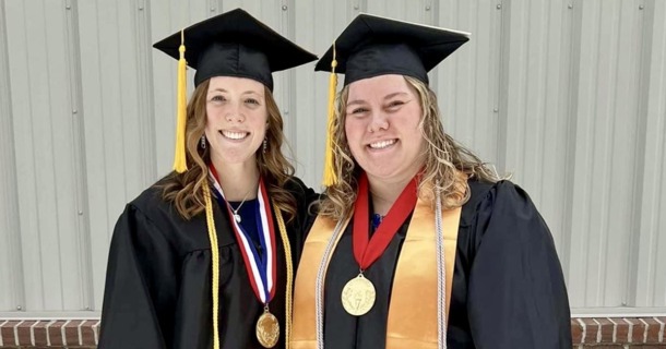
[{"label": "pale metal siding panel at the far right edge, above bricks", "polygon": [[638,192],[638,225],[634,237],[635,274],[629,278],[631,305],[666,306],[666,3],[646,1],[643,33],[642,96],[639,131],[644,140],[635,156],[641,182]]}]

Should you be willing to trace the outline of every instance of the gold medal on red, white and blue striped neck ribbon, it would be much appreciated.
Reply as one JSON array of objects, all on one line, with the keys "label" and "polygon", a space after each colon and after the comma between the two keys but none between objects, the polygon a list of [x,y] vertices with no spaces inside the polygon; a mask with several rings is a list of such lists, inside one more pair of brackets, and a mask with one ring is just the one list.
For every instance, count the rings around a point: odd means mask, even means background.
[{"label": "gold medal on red, white and blue striped neck ribbon", "polygon": [[259,344],[264,348],[273,348],[280,339],[280,323],[277,317],[273,315],[269,310],[269,302],[275,296],[275,280],[277,278],[277,258],[275,245],[275,229],[273,227],[273,214],[271,212],[271,205],[265,190],[263,179],[259,181],[259,193],[257,195],[257,228],[259,230],[259,242],[261,250],[264,251],[260,254],[254,244],[251,242],[250,236],[245,231],[240,225],[240,219],[237,219],[236,215],[228,205],[223,205],[224,193],[222,186],[217,181],[217,173],[215,169],[211,167],[211,173],[214,179],[213,184],[217,191],[217,198],[221,201],[219,206],[227,206],[227,212],[236,234],[236,240],[240,244],[240,252],[242,260],[248,272],[250,285],[254,294],[259,301],[264,304],[264,312],[257,320],[255,335]]}]

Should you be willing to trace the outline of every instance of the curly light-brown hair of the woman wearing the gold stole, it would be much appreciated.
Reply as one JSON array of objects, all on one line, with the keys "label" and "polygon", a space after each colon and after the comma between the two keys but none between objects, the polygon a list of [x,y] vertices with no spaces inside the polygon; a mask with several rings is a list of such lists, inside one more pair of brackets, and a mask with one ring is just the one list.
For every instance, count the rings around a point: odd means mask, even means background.
[{"label": "curly light-brown hair of the woman wearing the gold stole", "polygon": [[[443,208],[462,206],[469,198],[467,179],[496,182],[500,178],[474,153],[444,133],[437,95],[421,81],[404,76],[418,95],[423,110],[419,129],[426,141],[424,170],[418,183],[418,195],[435,207],[436,193],[442,197]],[[338,181],[325,190],[320,203],[320,215],[341,219],[352,213],[357,195],[360,166],[352,156],[345,135],[345,119],[349,86],[345,86],[335,100],[333,124],[333,170]]]}]

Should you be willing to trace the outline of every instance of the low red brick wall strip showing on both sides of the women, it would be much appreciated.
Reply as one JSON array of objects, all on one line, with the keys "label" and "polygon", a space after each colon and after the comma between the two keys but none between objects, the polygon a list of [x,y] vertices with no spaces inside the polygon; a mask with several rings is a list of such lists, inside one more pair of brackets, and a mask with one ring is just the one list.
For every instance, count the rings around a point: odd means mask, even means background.
[{"label": "low red brick wall strip showing on both sides of the women", "polygon": [[[663,317],[572,318],[573,349],[666,349]],[[95,348],[98,320],[0,320],[0,348]]]}]

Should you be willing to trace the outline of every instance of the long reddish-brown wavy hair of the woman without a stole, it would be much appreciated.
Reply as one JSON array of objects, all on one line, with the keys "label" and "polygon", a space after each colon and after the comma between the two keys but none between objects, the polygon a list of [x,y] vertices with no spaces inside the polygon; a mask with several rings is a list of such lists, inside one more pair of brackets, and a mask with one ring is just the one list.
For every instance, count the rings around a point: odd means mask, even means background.
[{"label": "long reddish-brown wavy hair of the woman without a stole", "polygon": [[[210,147],[201,147],[201,136],[206,123],[206,80],[199,84],[192,93],[187,108],[186,124],[186,158],[188,170],[178,173],[173,171],[156,185],[162,189],[164,200],[171,202],[185,219],[202,213],[205,208],[203,185],[210,185],[207,164],[211,161]],[[260,146],[257,149],[257,165],[263,178],[271,201],[284,213],[287,221],[296,216],[296,197],[284,189],[294,174],[294,167],[282,153],[284,143],[284,122],[280,108],[271,91],[264,86],[266,111],[269,113],[266,129],[266,152]]]}]

